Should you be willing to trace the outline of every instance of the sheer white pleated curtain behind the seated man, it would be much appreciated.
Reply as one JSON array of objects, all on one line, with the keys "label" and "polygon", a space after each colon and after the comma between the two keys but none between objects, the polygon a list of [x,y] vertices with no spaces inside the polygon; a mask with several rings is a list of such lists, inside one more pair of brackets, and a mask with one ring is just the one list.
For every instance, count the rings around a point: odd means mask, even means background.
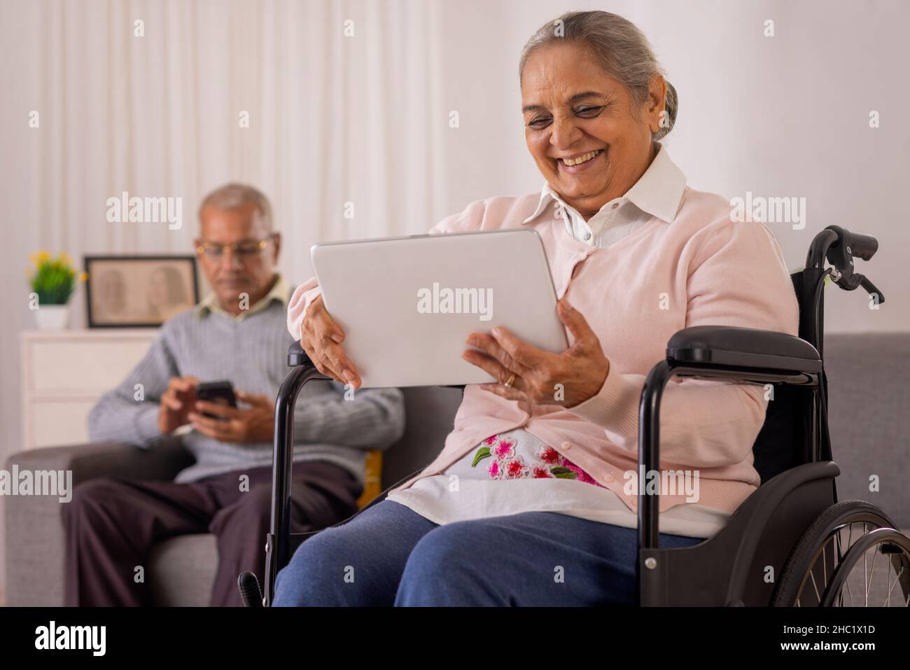
[{"label": "sheer white pleated curtain behind the seated man", "polygon": [[[295,275],[317,240],[429,228],[447,184],[438,8],[45,0],[41,246],[185,252],[199,199],[227,180],[272,199]],[[108,223],[123,191],[183,198],[183,228]]]}]

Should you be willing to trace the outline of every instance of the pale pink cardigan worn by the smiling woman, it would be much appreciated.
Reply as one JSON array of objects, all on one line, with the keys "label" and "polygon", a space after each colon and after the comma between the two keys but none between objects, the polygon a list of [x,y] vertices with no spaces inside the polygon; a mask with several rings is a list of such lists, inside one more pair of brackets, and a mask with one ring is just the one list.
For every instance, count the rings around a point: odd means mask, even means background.
[{"label": "pale pink cardigan worn by the smiling woman", "polygon": [[[539,200],[540,193],[478,200],[430,233],[520,228]],[[664,358],[672,334],[708,324],[797,334],[798,306],[781,249],[763,223],[733,222],[731,209],[720,196],[686,187],[672,222],[654,217],[599,249],[572,238],[551,202],[527,225],[543,239],[557,295],[568,294],[611,361],[601,391],[570,409],[537,405],[529,414],[516,401],[469,385],[439,456],[396,490],[443,472],[490,435],[523,426],[637,509],[626,473],[637,481],[639,401],[645,375]],[[294,292],[288,330],[295,338],[318,293],[315,278]],[[698,502],[733,512],[760,481],[752,445],[764,421],[763,387],[674,381],[662,401],[661,469],[697,471]],[[660,510],[684,501],[662,492]]]}]

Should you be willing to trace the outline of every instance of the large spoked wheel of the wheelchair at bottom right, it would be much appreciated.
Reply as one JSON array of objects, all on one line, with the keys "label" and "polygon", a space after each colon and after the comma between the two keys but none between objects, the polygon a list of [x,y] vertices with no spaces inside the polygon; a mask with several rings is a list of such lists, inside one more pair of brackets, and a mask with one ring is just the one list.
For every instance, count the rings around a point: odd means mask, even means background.
[{"label": "large spoked wheel of the wheelchair at bottom right", "polygon": [[910,539],[874,504],[836,503],[794,546],[773,604],[905,607],[910,604]]}]

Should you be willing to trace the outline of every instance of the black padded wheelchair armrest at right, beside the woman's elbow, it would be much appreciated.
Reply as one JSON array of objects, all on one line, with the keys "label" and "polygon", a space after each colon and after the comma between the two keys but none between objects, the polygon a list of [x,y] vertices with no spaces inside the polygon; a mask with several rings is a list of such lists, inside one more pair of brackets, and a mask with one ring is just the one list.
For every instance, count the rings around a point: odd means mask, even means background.
[{"label": "black padded wheelchair armrest at right, beside the woman's elbow", "polygon": [[667,359],[682,364],[820,372],[818,351],[785,332],[735,326],[693,326],[667,342]]}]

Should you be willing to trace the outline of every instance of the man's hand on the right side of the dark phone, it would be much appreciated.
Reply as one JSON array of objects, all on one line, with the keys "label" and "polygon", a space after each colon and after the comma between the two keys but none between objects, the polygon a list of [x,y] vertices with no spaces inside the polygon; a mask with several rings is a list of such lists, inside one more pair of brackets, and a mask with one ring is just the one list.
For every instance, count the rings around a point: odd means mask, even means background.
[{"label": "man's hand on the right side of the dark phone", "polygon": [[275,402],[258,393],[234,391],[234,394],[249,409],[199,400],[187,416],[190,424],[203,435],[221,442],[271,442],[275,433]]}]

